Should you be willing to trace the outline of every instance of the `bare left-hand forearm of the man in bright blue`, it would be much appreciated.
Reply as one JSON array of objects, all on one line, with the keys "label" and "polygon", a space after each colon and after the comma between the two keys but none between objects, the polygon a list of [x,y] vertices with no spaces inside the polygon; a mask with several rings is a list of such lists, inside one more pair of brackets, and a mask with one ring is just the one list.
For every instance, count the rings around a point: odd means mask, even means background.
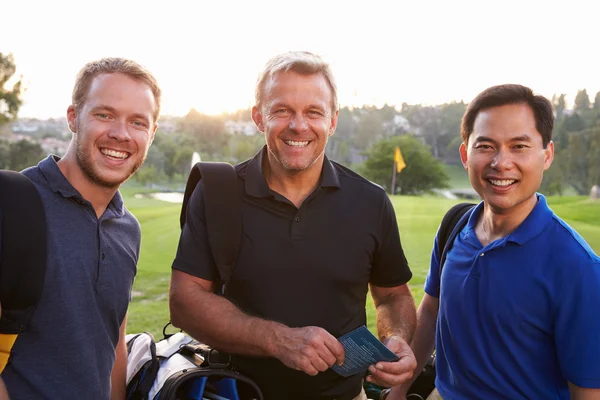
[{"label": "bare left-hand forearm of the man in bright blue", "polygon": [[411,343],[411,347],[417,360],[417,373],[408,382],[395,387],[387,397],[389,400],[404,399],[410,385],[415,381],[420,371],[433,354],[435,348],[435,327],[437,322],[438,308],[440,301],[438,298],[424,294],[419,310],[417,311],[417,329]]}]

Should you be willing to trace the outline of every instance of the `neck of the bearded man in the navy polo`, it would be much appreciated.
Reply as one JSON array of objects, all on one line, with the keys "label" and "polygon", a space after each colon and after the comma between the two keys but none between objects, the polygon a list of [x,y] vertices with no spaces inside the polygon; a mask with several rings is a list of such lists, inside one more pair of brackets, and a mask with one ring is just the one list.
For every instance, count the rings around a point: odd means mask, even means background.
[{"label": "neck of the bearded man in the navy polo", "polygon": [[81,196],[92,204],[99,219],[119,188],[106,188],[92,182],[70,152],[58,161],[58,168]]}]

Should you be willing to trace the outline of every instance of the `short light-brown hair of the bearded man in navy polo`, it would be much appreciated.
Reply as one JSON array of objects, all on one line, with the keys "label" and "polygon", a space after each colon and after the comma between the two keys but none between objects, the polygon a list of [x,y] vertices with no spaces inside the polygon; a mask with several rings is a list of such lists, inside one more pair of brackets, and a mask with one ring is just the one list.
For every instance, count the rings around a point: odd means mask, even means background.
[{"label": "short light-brown hair of the bearded man in navy polo", "polygon": [[154,122],[158,120],[160,114],[160,96],[161,91],[156,78],[146,68],[135,61],[118,57],[107,57],[97,61],[87,63],[77,74],[75,86],[71,101],[76,110],[80,110],[85,101],[92,80],[100,74],[123,74],[128,77],[147,84],[154,95],[156,111],[154,113]]}]

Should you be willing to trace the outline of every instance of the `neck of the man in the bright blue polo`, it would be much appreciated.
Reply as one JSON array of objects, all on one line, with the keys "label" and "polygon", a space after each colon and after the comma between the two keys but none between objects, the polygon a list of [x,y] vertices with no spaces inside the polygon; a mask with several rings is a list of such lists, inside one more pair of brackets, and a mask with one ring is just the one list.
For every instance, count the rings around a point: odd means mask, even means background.
[{"label": "neck of the man in the bright blue polo", "polygon": [[484,203],[481,216],[475,225],[477,239],[483,246],[487,246],[495,240],[510,235],[525,221],[536,204],[535,194],[510,210],[495,210]]}]

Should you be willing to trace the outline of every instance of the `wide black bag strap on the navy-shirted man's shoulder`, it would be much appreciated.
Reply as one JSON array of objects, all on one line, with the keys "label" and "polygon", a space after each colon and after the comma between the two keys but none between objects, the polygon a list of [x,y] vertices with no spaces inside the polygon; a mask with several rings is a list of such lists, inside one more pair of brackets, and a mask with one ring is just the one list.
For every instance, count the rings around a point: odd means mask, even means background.
[{"label": "wide black bag strap on the navy-shirted man's shoulder", "polygon": [[0,213],[0,333],[18,334],[33,315],[46,275],[46,214],[25,175],[0,171]]}]

